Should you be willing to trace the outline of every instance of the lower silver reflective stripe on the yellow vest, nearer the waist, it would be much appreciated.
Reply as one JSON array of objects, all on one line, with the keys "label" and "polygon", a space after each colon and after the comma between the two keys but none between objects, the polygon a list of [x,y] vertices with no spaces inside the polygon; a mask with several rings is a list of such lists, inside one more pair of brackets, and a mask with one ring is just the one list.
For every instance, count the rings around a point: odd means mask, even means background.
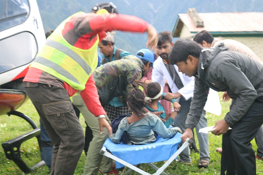
[{"label": "lower silver reflective stripe on the yellow vest, nearer the waist", "polygon": [[69,80],[73,81],[74,83],[80,84],[79,81],[77,81],[77,79],[71,75],[68,71],[66,71],[65,69],[63,69],[62,67],[60,67],[59,65],[57,65],[56,63],[43,58],[43,57],[36,57],[36,59],[34,60],[35,62],[41,63],[47,67],[50,67],[51,69],[55,70],[56,72],[58,72],[60,75],[63,75],[64,77],[68,78]]}]

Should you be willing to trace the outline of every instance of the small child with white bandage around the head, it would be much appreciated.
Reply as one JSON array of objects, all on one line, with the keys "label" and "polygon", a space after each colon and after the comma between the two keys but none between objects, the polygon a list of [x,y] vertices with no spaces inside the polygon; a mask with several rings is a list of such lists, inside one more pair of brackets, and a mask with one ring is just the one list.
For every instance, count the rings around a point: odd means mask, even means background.
[{"label": "small child with white bandage around the head", "polygon": [[[164,95],[166,93],[163,93],[162,86],[157,83],[149,83],[147,87],[147,93],[146,99],[148,100],[148,104],[146,105],[146,108],[150,112],[155,112],[155,111],[164,111],[164,113],[160,114],[160,118],[165,119],[165,110],[162,107],[162,105],[159,103],[159,100],[164,99]],[[171,124],[174,123],[174,118],[177,116],[177,111],[180,110],[181,105],[177,102],[176,99],[172,99],[171,102],[174,104],[174,109],[167,121],[164,121],[165,126],[168,128]]]}]

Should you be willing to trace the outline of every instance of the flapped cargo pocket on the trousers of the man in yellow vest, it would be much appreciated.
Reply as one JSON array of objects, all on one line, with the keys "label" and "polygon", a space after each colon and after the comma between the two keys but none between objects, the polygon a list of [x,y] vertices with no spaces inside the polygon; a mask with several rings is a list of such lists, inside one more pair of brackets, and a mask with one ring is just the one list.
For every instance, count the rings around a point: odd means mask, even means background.
[{"label": "flapped cargo pocket on the trousers of the man in yellow vest", "polygon": [[70,132],[77,128],[77,117],[68,100],[43,104],[46,119],[56,132]]}]

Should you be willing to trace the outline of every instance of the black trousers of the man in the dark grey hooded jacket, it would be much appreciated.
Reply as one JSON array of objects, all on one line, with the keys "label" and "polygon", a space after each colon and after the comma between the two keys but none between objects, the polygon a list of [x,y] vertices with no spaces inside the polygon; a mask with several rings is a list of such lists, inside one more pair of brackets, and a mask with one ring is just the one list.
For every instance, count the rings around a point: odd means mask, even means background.
[{"label": "black trousers of the man in the dark grey hooded jacket", "polygon": [[255,151],[250,141],[263,123],[263,97],[250,106],[245,115],[222,137],[221,175],[255,175]]}]

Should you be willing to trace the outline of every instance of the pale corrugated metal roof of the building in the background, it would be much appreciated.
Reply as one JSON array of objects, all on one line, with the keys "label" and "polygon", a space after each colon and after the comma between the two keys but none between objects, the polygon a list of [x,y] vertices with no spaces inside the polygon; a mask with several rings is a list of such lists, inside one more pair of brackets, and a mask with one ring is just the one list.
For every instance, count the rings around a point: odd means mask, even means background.
[{"label": "pale corrugated metal roof of the building in the background", "polygon": [[[184,23],[190,32],[207,30],[210,32],[263,32],[262,12],[237,12],[237,13],[198,13],[203,19],[205,27],[195,27],[188,14],[178,14],[177,22],[174,26],[174,36],[181,31],[179,29]],[[177,34],[175,33],[177,32]]]}]

